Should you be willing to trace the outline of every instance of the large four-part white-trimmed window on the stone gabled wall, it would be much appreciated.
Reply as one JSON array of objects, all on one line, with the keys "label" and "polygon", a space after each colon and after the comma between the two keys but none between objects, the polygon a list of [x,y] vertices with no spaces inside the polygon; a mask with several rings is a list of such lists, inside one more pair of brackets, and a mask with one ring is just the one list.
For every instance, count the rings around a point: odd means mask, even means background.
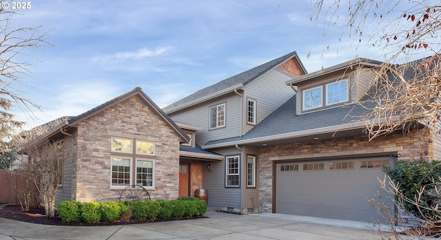
[{"label": "large four-part white-trimmed window on the stone gabled wall", "polygon": [[112,137],[111,152],[112,188],[136,184],[154,189],[154,142]]}]

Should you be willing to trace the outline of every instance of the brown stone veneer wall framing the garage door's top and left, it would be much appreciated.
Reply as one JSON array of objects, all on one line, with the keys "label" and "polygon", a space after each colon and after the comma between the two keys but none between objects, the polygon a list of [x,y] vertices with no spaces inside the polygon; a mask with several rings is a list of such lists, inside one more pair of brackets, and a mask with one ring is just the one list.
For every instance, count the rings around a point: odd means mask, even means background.
[{"label": "brown stone veneer wall framing the garage door's top and left", "polygon": [[377,137],[372,141],[369,141],[367,136],[358,136],[260,148],[258,157],[260,211],[272,212],[273,161],[320,159],[380,152],[398,152],[399,159],[402,160],[415,160],[420,157],[431,159],[433,157],[433,148],[429,145],[427,137],[422,137],[417,132],[407,137],[403,137],[402,133],[390,134],[386,137]]}]

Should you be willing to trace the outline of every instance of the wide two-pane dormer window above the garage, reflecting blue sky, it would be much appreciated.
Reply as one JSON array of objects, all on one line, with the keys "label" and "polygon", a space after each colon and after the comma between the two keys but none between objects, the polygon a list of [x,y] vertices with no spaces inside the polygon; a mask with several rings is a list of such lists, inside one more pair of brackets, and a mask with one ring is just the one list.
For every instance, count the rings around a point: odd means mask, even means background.
[{"label": "wide two-pane dormer window above the garage, reflecting blue sky", "polygon": [[349,101],[348,79],[332,81],[331,83],[302,90],[302,110],[312,110],[347,101]]}]

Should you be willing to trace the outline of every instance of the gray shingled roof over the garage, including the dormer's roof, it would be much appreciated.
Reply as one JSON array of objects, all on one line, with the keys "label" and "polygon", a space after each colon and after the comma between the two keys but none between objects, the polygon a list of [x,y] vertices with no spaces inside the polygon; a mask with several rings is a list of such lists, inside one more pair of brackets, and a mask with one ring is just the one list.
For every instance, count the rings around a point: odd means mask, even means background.
[{"label": "gray shingled roof over the garage, including the dormer's roof", "polygon": [[[420,61],[422,60],[411,61],[405,63],[403,66],[418,66]],[[302,75],[291,81],[287,81],[287,84],[293,83],[294,85],[300,81],[307,81],[325,74],[332,74],[336,70],[346,70],[352,66],[373,68],[380,64],[384,63],[371,59],[354,59],[326,68],[325,70]],[[393,67],[399,68],[400,66],[393,65]],[[404,78],[407,80],[412,79],[417,73],[418,70],[415,68],[406,68]],[[390,81],[397,81],[397,76],[391,72],[388,72],[388,78]],[[376,92],[376,88],[378,88],[378,86],[374,84],[367,94],[360,99],[360,103],[362,104],[351,103],[300,115],[296,115],[296,94],[242,137],[209,141],[205,146],[202,146],[202,148],[219,148],[234,146],[236,144],[262,146],[262,144],[267,143],[286,143],[288,139],[290,142],[300,142],[313,141],[317,138],[346,137],[350,134],[363,134],[362,130],[365,128],[365,122],[362,121],[362,117],[371,112],[371,109],[376,106],[377,103],[373,98],[381,97],[381,95],[373,94],[373,92]],[[393,117],[398,117],[398,115]],[[382,121],[384,120],[386,119]]]}]

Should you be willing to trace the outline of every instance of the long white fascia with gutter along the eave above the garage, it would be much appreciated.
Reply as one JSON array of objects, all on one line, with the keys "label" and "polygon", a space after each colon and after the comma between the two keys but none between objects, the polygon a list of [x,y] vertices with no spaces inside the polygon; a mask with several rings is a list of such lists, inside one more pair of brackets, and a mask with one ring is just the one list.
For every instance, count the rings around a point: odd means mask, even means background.
[{"label": "long white fascia with gutter along the eave above the garage", "polygon": [[277,140],[283,140],[283,139],[295,139],[298,137],[306,137],[316,134],[325,134],[330,132],[338,132],[342,130],[354,130],[358,128],[363,128],[365,126],[365,122],[354,122],[354,123],[346,123],[342,125],[336,125],[336,126],[329,126],[325,128],[315,128],[311,130],[303,130],[299,132],[288,132],[283,134],[276,134],[266,137],[257,137],[254,139],[244,139],[244,140],[238,140],[238,141],[229,141],[225,143],[217,143],[212,144],[208,146],[202,146],[202,149],[210,149],[210,148],[223,148],[228,146],[234,146],[234,145],[245,145],[250,143],[259,143],[264,141],[277,141]]}]

